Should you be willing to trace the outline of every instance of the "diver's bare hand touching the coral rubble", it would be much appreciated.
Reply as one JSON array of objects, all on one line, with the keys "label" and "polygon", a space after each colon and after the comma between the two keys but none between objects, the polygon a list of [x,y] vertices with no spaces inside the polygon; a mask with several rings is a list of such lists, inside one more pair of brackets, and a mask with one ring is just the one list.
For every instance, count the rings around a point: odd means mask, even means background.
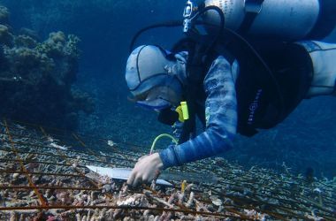
[{"label": "diver's bare hand touching the coral rubble", "polygon": [[142,156],[135,164],[127,184],[135,187],[140,183],[149,183],[156,178],[157,173],[161,171],[163,166],[164,164],[158,153]]}]

